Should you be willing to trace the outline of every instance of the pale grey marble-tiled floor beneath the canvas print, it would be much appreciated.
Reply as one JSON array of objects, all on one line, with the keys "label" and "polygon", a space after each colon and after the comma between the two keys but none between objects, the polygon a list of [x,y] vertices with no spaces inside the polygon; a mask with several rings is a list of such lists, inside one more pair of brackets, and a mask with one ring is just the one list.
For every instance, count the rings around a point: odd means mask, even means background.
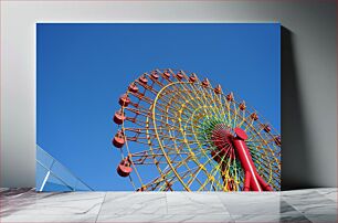
[{"label": "pale grey marble-tiled floor beneath the canvas print", "polygon": [[1,189],[0,222],[337,222],[337,189],[68,192]]}]

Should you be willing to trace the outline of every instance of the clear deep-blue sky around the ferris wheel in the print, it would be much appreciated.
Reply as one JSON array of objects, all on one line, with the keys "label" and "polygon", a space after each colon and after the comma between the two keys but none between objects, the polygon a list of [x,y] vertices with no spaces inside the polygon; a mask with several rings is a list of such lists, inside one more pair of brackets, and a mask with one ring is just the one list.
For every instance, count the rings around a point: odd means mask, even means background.
[{"label": "clear deep-blue sky around the ferris wheel in the print", "polygon": [[95,190],[116,173],[118,97],[154,68],[181,68],[237,93],[281,131],[279,23],[36,24],[36,144]]}]

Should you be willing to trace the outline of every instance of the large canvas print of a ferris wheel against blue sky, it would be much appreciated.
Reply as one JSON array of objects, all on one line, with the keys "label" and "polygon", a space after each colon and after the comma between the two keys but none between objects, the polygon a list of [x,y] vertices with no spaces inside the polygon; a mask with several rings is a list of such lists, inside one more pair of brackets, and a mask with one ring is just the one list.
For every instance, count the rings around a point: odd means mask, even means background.
[{"label": "large canvas print of a ferris wheel against blue sky", "polygon": [[38,191],[279,191],[279,23],[39,23]]}]

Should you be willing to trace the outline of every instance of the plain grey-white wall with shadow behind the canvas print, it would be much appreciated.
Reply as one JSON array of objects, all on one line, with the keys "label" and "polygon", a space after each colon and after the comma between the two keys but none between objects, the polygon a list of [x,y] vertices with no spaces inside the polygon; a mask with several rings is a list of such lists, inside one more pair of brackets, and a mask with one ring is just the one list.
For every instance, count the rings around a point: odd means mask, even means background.
[{"label": "plain grey-white wall with shadow behind the canvas print", "polygon": [[335,1],[1,1],[1,187],[34,187],[35,22],[266,22],[283,29],[283,187],[337,187]]}]

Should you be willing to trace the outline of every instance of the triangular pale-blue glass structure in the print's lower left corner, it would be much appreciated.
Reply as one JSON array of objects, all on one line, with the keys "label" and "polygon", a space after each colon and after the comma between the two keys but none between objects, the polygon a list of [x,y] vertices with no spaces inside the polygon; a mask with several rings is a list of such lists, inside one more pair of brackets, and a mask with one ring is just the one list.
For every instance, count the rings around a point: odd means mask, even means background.
[{"label": "triangular pale-blue glass structure in the print's lower left corner", "polygon": [[93,191],[63,164],[36,146],[36,191]]}]

